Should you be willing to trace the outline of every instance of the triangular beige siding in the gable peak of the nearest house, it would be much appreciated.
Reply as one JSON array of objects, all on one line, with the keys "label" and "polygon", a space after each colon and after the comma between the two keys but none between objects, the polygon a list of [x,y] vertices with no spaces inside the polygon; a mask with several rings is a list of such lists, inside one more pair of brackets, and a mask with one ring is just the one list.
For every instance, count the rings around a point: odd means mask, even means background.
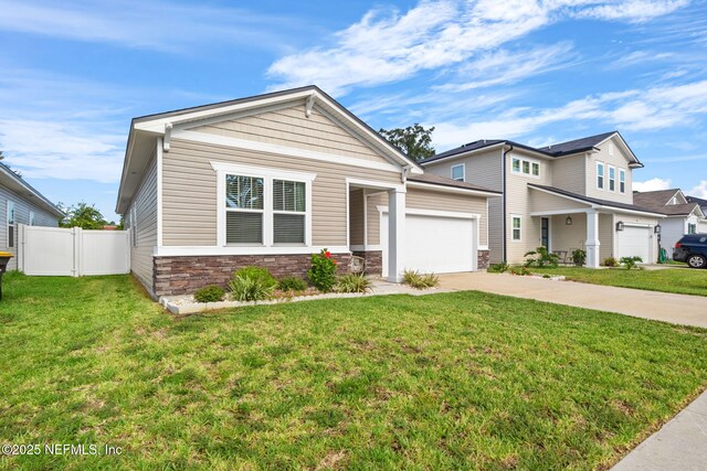
[{"label": "triangular beige siding in the gable peak of the nearest house", "polygon": [[276,111],[199,126],[191,130],[388,162],[379,152],[344,129],[340,124],[325,116],[316,106],[307,117],[304,103]]}]

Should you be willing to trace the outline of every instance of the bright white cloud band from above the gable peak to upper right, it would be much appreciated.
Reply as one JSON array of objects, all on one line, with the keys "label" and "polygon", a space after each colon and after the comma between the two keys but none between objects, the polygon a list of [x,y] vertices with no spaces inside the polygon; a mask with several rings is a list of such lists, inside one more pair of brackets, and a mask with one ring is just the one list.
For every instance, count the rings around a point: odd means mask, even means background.
[{"label": "bright white cloud band from above the gable peak to upper right", "polygon": [[684,3],[647,4],[636,0],[622,3],[610,0],[421,1],[404,13],[371,10],[359,22],[335,33],[327,42],[330,46],[286,55],[271,65],[267,75],[277,81],[272,89],[314,83],[333,95],[344,95],[357,85],[398,82],[421,71],[443,69],[463,63],[553,21],[577,15],[645,21],[669,13]]}]

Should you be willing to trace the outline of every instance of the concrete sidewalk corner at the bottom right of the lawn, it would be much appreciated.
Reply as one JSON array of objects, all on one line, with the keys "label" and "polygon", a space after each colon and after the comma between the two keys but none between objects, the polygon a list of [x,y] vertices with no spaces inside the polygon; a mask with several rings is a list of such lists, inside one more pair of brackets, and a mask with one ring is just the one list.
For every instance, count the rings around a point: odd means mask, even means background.
[{"label": "concrete sidewalk corner at the bottom right of the lawn", "polygon": [[619,461],[612,471],[707,469],[707,392]]}]

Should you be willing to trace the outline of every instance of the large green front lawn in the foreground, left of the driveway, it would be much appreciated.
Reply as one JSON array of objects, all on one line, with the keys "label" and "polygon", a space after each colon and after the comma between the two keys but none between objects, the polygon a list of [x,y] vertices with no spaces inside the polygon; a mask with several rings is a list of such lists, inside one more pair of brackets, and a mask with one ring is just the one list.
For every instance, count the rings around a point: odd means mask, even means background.
[{"label": "large green front lawn in the foreground, left of the driveway", "polygon": [[606,468],[707,386],[707,331],[479,292],[175,318],[128,277],[10,274],[23,469]]}]

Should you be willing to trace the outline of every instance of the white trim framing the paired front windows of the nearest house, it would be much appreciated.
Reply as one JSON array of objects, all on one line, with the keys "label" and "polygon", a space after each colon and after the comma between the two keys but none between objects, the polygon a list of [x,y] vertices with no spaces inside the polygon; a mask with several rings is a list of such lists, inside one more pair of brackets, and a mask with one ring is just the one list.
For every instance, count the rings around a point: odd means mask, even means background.
[{"label": "white trim framing the paired front windows of the nearest house", "polygon": [[[306,192],[305,214],[305,244],[302,247],[312,247],[312,183],[317,178],[316,173],[291,172],[285,170],[272,169],[266,167],[240,165],[235,163],[212,161],[211,168],[217,172],[217,245],[218,247],[232,247],[234,249],[249,248],[257,250],[257,253],[273,251],[281,247],[292,249],[298,247],[291,244],[275,244],[273,234],[274,228],[274,210],[273,210],[273,180],[288,180],[294,182],[304,182]],[[225,175],[255,176],[263,179],[263,244],[260,245],[240,245],[226,244],[225,242]],[[247,211],[247,210],[243,210]],[[257,210],[260,213],[261,211]],[[302,213],[296,213],[302,214]]]}]

